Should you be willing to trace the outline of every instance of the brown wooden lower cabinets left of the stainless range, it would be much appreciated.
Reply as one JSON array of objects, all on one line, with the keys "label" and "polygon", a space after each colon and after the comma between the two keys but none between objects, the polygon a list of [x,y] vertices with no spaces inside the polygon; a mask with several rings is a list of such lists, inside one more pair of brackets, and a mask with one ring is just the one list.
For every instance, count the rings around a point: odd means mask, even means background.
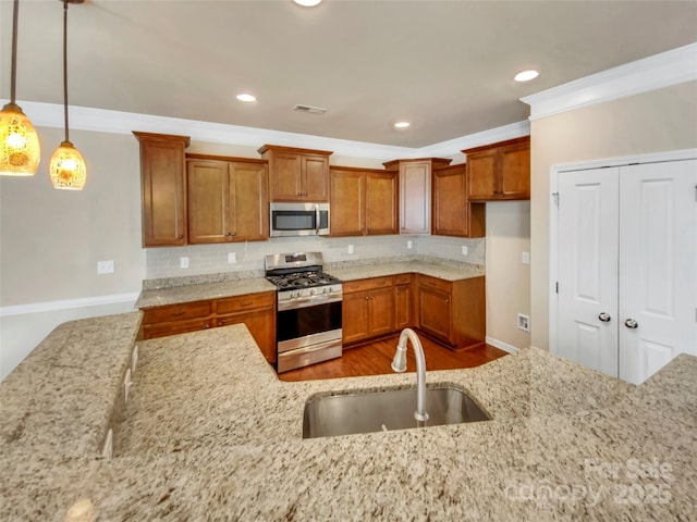
[{"label": "brown wooden lower cabinets left of the stainless range", "polygon": [[276,362],[276,291],[143,310],[143,338],[245,324],[269,363]]}]

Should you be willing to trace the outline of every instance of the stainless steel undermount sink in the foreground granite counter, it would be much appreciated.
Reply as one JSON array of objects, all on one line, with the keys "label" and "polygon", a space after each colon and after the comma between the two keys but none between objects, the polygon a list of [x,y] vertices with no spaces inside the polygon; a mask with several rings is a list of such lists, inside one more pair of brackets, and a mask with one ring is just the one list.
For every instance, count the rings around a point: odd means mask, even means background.
[{"label": "stainless steel undermount sink in the foreground granite counter", "polygon": [[303,438],[460,424],[491,419],[463,390],[453,386],[439,386],[427,388],[428,419],[417,421],[414,418],[416,396],[416,388],[406,388],[310,398],[305,403]]}]

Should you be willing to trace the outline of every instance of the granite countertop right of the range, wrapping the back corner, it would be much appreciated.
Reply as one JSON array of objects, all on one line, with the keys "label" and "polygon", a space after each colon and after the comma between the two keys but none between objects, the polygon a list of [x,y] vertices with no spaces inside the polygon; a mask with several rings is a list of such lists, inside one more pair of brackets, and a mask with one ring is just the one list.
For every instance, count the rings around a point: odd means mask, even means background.
[{"label": "granite countertop right of the range, wrapping the back corner", "polygon": [[485,275],[484,266],[470,263],[438,263],[430,261],[401,261],[393,263],[377,263],[365,265],[344,266],[328,263],[326,272],[338,277],[342,282],[367,279],[399,274],[424,274],[445,281],[468,279]]}]

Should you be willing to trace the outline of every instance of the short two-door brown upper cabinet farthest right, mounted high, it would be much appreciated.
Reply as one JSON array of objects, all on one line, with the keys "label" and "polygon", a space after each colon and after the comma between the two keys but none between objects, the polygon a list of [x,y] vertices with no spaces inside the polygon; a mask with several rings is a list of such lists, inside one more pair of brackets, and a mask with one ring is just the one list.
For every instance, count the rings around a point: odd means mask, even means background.
[{"label": "short two-door brown upper cabinet farthest right, mounted high", "polygon": [[470,201],[530,199],[530,137],[463,150]]}]

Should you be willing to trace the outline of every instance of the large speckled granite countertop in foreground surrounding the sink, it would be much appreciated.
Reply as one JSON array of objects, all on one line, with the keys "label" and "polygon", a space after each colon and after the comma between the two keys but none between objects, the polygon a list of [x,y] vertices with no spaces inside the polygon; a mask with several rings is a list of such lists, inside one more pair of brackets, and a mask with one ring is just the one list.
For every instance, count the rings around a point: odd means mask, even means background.
[{"label": "large speckled granite countertop in foreground surrounding the sink", "polygon": [[[694,517],[690,356],[634,387],[530,348],[428,373],[429,385],[467,390],[491,421],[302,439],[309,396],[411,386],[415,374],[280,382],[243,325],[138,348],[132,398],[113,424],[115,457],[71,450],[71,434],[3,448],[1,520]],[[28,370],[25,394],[36,383]],[[52,371],[76,385],[90,378],[74,366]],[[22,391],[15,378],[0,397]]]}]

